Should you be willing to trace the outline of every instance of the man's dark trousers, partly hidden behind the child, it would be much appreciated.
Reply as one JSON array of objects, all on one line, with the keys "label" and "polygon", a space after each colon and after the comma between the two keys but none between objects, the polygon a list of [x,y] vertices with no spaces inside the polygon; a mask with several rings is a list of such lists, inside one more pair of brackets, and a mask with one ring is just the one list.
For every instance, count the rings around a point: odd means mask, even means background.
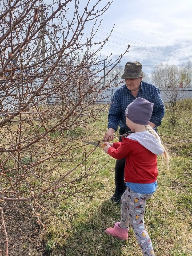
[{"label": "man's dark trousers, partly hidden behind the child", "polygon": [[[154,130],[157,132],[157,128]],[[126,133],[121,128],[119,129],[119,135]],[[122,141],[122,137],[119,137],[119,141]],[[115,192],[116,193],[124,193],[126,189],[125,181],[124,181],[124,170],[125,170],[125,158],[117,159],[115,163]]]}]

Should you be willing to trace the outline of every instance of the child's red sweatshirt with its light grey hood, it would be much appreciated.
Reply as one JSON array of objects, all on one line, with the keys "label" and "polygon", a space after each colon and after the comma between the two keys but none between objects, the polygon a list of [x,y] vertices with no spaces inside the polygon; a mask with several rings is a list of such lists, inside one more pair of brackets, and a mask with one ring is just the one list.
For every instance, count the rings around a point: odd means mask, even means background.
[{"label": "child's red sweatshirt with its light grey hood", "polygon": [[125,182],[133,183],[153,183],[157,180],[157,155],[163,152],[155,136],[148,131],[130,134],[108,149],[113,158],[126,158]]}]

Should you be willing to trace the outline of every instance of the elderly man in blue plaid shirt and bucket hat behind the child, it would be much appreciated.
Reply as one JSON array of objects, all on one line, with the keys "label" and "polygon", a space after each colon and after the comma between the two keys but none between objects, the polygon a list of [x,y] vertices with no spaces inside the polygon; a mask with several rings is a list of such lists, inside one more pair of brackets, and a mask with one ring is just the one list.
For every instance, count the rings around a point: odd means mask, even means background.
[{"label": "elderly man in blue plaid shirt and bucket hat behind the child", "polygon": [[[165,106],[161,99],[159,89],[153,84],[142,81],[144,73],[142,65],[138,61],[127,62],[125,71],[121,78],[125,79],[125,84],[119,87],[112,99],[109,115],[108,115],[108,131],[104,135],[103,140],[109,142],[114,139],[114,132],[118,126],[119,135],[129,133],[131,130],[126,125],[125,109],[133,102],[135,98],[144,98],[153,103],[153,113],[149,125],[157,131],[157,126],[161,125],[161,120],[165,114]],[[119,137],[121,141],[121,136]],[[122,194],[125,192],[124,184],[125,158],[116,160],[115,164],[115,193],[111,197],[111,201],[119,202]]]}]

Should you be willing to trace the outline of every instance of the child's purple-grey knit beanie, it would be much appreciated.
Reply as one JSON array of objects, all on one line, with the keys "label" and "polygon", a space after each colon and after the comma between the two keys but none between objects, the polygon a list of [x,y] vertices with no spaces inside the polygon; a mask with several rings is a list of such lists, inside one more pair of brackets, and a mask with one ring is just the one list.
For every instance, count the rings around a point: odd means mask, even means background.
[{"label": "child's purple-grey knit beanie", "polygon": [[136,98],[126,110],[125,116],[139,125],[148,125],[153,111],[153,103],[143,98]]}]

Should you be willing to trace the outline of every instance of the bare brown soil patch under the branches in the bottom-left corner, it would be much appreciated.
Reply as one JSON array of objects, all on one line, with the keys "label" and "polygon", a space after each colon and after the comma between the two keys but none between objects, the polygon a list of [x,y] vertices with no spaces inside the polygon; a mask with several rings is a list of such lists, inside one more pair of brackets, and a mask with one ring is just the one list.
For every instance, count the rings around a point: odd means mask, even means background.
[{"label": "bare brown soil patch under the branches in the bottom-left corner", "polygon": [[[13,218],[14,217],[14,218]],[[48,256],[45,244],[40,238],[37,219],[30,211],[11,209],[5,210],[4,220],[9,239],[9,256]],[[2,224],[2,223],[1,223]],[[0,256],[6,255],[5,234],[0,224]]]}]

